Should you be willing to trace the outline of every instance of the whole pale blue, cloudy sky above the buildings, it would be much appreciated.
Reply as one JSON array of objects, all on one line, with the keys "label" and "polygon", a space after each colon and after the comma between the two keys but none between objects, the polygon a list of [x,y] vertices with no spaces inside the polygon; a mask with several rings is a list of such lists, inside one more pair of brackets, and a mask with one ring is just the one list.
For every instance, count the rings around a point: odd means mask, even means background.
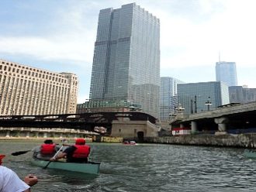
[{"label": "whole pale blue, cloudy sky above the buildings", "polygon": [[256,88],[254,0],[0,0],[0,59],[78,75],[89,95],[100,9],[136,2],[160,19],[161,77],[216,81],[236,62],[238,85]]}]

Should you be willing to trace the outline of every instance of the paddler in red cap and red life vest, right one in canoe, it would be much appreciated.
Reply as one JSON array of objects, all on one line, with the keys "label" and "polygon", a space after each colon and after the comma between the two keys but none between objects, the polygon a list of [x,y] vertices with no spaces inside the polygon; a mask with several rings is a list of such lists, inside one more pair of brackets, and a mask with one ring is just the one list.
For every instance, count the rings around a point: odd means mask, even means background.
[{"label": "paddler in red cap and red life vest, right one in canoe", "polygon": [[85,145],[85,139],[76,139],[75,144],[68,146],[63,152],[58,153],[57,156],[51,158],[50,161],[56,161],[57,159],[67,158],[69,163],[86,163],[88,162],[88,156],[90,154],[91,147]]}]

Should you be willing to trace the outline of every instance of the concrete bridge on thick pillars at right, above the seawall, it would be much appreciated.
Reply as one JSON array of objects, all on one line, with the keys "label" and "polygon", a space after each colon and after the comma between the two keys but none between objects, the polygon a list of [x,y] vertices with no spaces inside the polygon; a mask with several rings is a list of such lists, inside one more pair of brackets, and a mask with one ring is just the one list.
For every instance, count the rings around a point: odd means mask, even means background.
[{"label": "concrete bridge on thick pillars at right, above the seawall", "polygon": [[185,117],[182,113],[171,119],[171,127],[191,128],[192,132],[227,132],[256,128],[256,101],[247,104],[223,105],[213,111],[203,111]]}]

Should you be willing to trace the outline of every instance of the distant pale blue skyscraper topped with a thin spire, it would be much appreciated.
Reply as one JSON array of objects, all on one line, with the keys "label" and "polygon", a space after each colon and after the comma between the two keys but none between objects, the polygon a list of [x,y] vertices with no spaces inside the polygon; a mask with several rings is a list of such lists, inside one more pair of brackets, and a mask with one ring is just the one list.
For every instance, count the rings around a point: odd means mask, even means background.
[{"label": "distant pale blue skyscraper topped with a thin spire", "polygon": [[216,62],[216,81],[223,81],[227,86],[237,86],[237,68],[235,62]]}]

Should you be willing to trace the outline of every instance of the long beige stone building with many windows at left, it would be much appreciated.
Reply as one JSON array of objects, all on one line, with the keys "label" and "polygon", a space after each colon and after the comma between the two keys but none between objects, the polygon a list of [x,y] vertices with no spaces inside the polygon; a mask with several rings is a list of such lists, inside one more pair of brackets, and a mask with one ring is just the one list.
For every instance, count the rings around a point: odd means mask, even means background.
[{"label": "long beige stone building with many windows at left", "polygon": [[0,115],[76,112],[78,77],[0,60]]}]

